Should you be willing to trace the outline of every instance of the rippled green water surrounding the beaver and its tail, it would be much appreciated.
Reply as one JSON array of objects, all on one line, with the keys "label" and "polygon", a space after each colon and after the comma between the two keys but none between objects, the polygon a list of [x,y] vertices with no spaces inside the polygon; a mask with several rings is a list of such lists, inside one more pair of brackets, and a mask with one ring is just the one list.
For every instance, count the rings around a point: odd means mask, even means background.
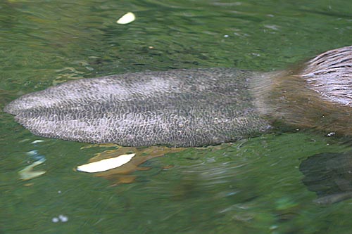
[{"label": "rippled green water surrounding the beaver and its tail", "polygon": [[[0,108],[82,77],[284,69],[351,45],[351,9],[347,0],[1,1]],[[116,24],[128,11],[137,19]],[[339,141],[298,131],[190,148],[146,162],[137,183],[111,186],[73,171],[101,148],[33,136],[0,112],[0,233],[351,233],[351,200],[315,204],[298,169],[310,155],[348,150]],[[23,182],[31,150],[46,174]],[[54,223],[60,214],[68,221]]]}]

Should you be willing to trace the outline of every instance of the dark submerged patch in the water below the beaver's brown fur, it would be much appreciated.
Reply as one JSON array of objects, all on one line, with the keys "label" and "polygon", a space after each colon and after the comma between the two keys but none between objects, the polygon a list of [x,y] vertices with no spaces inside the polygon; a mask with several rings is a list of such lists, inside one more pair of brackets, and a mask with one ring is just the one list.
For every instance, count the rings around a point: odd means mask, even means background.
[{"label": "dark submerged patch in the water below the beaver's brown fur", "polygon": [[318,204],[352,198],[352,152],[327,152],[308,157],[299,167],[303,183],[318,195]]}]

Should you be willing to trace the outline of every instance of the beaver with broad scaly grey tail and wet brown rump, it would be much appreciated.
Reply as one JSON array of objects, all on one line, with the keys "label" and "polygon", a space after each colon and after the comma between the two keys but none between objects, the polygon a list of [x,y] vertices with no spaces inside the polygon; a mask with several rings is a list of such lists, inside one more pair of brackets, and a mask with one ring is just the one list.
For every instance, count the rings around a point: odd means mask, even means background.
[{"label": "beaver with broad scaly grey tail and wet brown rump", "polygon": [[196,147],[281,126],[352,134],[352,46],[286,71],[234,68],[79,79],[4,108],[33,134],[123,146]]}]

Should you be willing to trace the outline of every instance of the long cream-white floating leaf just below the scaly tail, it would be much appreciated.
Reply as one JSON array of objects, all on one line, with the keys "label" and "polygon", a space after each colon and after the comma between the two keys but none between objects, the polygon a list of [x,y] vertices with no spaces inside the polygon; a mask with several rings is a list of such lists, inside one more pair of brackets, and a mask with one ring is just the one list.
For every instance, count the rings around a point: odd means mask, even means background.
[{"label": "long cream-white floating leaf just below the scaly tail", "polygon": [[100,171],[108,171],[110,169],[114,169],[116,167],[120,167],[127,162],[130,162],[132,157],[136,154],[129,154],[129,155],[120,155],[118,157],[111,157],[106,160],[101,160],[98,162],[91,162],[89,164],[84,164],[77,167],[77,171],[83,172],[100,172]]}]

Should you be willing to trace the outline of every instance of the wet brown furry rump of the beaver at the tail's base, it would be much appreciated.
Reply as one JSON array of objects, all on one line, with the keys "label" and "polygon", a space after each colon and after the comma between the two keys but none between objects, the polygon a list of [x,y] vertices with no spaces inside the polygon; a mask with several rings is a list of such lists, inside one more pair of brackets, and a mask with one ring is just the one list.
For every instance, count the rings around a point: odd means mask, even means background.
[{"label": "wet brown furry rump of the beaver at the tail's base", "polygon": [[296,70],[258,75],[252,86],[258,110],[273,122],[352,135],[352,46]]}]

